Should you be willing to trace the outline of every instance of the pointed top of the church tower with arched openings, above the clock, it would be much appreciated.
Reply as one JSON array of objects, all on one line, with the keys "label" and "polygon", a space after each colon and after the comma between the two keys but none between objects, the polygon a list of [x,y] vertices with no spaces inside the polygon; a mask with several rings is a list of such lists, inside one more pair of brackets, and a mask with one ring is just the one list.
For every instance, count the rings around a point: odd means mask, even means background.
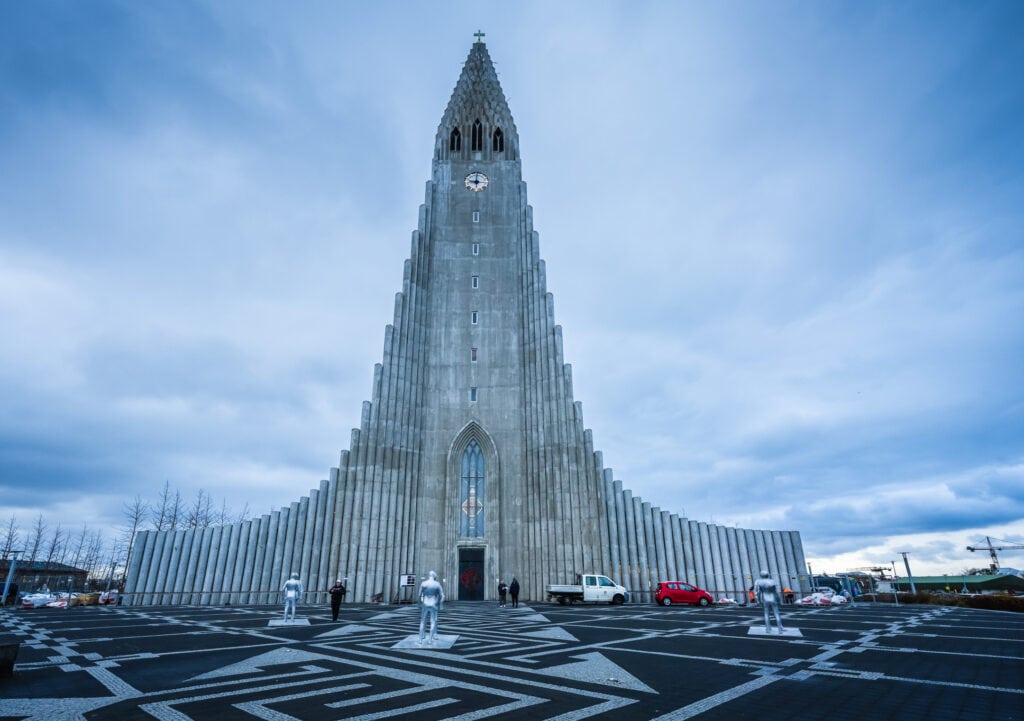
[{"label": "pointed top of the church tower with arched openings, above the clock", "polygon": [[498,73],[490,61],[483,33],[462,68],[444,116],[437,127],[435,160],[517,160],[519,134]]}]

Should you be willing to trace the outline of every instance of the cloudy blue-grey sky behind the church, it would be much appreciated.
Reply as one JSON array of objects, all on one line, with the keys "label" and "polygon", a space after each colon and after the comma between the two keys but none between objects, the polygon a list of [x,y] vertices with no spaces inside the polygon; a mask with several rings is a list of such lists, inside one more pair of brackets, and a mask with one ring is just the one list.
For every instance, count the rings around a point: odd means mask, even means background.
[{"label": "cloudy blue-grey sky behind the church", "polygon": [[1024,6],[372,5],[0,5],[0,520],[327,477],[481,29],[627,487],[816,570],[1024,542]]}]

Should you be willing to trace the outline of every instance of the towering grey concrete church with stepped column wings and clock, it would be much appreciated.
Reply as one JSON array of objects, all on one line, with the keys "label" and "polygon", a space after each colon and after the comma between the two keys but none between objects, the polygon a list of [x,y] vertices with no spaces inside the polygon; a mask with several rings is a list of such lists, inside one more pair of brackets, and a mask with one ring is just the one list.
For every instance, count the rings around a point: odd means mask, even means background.
[{"label": "towering grey concrete church with stepped column wings and clock", "polygon": [[579,572],[650,600],[658,581],[742,598],[761,568],[806,586],[798,532],[689,520],[633,496],[603,466],[547,292],[519,138],[482,42],[437,130],[372,400],[330,479],[260,518],[141,534],[126,601],[279,603],[289,574],[323,601],[412,596],[436,570],[456,599],[523,598]]}]

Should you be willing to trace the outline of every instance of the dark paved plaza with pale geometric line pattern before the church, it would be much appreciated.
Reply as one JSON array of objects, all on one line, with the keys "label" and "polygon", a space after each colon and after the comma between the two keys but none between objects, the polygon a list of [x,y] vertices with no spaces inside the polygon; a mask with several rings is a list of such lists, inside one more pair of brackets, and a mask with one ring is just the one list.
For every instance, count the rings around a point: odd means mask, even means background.
[{"label": "dark paved plaza with pale geometric line pattern before the church", "polygon": [[450,603],[451,648],[397,648],[415,605],[2,610],[0,719],[1024,719],[1024,614]]}]

